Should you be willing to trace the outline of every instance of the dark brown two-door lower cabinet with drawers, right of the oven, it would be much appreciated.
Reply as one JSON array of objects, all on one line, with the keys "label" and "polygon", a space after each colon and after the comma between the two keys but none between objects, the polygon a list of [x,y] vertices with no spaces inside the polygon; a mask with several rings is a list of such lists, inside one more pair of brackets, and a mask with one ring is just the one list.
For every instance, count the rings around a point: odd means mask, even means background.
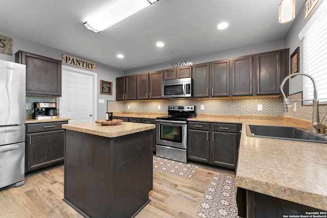
[{"label": "dark brown two-door lower cabinet with drawers, right of the oven", "polygon": [[188,159],[236,169],[241,124],[189,122]]}]

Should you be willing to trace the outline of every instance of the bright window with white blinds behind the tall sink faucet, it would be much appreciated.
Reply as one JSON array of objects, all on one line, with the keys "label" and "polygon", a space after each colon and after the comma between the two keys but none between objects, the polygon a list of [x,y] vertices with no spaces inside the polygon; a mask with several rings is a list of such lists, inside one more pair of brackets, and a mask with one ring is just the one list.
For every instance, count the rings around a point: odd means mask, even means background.
[{"label": "bright window with white blinds behind the tall sink faucet", "polygon": [[[303,39],[303,71],[315,79],[320,104],[327,104],[326,2],[321,1],[315,13],[298,35],[300,40]],[[313,84],[307,77],[303,77],[303,99],[313,99]],[[312,102],[303,102],[303,105],[309,104]]]}]

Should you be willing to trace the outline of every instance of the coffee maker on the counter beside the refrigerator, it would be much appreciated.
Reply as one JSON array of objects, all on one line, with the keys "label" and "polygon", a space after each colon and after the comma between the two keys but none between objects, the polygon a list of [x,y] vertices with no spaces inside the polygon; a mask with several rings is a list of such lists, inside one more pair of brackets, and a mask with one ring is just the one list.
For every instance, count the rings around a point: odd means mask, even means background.
[{"label": "coffee maker on the counter beside the refrigerator", "polygon": [[33,119],[54,119],[59,118],[57,103],[34,102],[32,110]]}]

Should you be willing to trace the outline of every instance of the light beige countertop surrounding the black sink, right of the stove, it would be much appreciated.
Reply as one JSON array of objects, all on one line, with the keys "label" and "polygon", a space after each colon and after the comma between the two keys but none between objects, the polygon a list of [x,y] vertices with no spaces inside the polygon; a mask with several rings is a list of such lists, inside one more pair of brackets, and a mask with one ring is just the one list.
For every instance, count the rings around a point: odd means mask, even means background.
[{"label": "light beige countertop surrounding the black sink, right of the stove", "polygon": [[246,135],[246,124],[296,126],[283,120],[217,117],[188,120],[243,124],[237,187],[327,210],[327,144]]}]

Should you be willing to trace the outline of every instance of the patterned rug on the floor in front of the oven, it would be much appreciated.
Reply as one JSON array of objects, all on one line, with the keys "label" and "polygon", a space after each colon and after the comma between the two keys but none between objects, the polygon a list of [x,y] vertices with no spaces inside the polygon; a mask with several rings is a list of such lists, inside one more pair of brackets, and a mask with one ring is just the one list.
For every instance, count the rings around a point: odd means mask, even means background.
[{"label": "patterned rug on the floor in front of the oven", "polygon": [[198,167],[188,163],[153,156],[153,168],[190,179]]}]

